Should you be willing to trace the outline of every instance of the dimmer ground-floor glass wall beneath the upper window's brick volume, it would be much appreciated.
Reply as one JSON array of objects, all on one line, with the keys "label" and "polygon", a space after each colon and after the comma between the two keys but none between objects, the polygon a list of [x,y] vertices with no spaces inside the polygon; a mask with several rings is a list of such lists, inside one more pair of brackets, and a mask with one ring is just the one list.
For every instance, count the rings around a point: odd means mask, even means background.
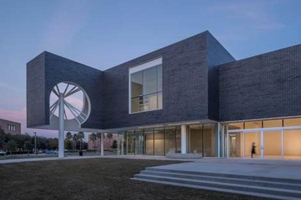
[{"label": "dimmer ground-floor glass wall beneath the upper window's brick volume", "polygon": [[[216,156],[215,124],[187,126],[188,152]],[[121,131],[122,132],[122,131]],[[181,153],[181,126],[123,131],[118,135],[118,152],[129,155]],[[122,148],[122,140],[123,148]]]}]

